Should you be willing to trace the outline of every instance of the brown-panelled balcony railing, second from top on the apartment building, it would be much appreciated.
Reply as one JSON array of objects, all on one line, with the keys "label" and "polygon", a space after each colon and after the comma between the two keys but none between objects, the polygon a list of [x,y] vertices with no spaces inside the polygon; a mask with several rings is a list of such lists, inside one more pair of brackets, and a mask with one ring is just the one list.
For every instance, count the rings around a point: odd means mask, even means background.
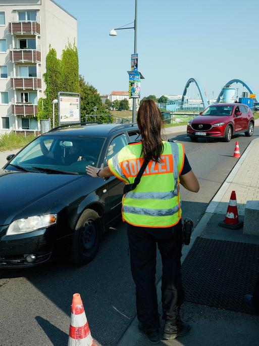
[{"label": "brown-panelled balcony railing, second from top on the apartment building", "polygon": [[40,63],[41,62],[41,47],[37,46],[37,49],[13,49],[10,45],[10,61],[14,62],[31,62]]}]

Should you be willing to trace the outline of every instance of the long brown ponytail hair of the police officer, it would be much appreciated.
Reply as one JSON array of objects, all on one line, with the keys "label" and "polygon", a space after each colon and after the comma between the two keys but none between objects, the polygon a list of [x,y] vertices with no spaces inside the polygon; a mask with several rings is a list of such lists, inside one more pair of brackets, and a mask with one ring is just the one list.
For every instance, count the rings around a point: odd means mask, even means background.
[{"label": "long brown ponytail hair of the police officer", "polygon": [[142,101],[138,109],[137,124],[142,138],[141,155],[158,162],[164,150],[161,138],[163,122],[161,112],[153,100]]}]

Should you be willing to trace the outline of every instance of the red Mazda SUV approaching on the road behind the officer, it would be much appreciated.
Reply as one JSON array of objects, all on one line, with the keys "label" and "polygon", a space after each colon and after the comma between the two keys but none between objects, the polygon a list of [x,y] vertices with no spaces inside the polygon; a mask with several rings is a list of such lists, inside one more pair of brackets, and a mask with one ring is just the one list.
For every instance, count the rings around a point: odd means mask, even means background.
[{"label": "red Mazda SUV approaching on the road behind the officer", "polygon": [[188,122],[187,136],[193,142],[199,137],[221,138],[229,142],[242,132],[253,134],[254,118],[250,108],[240,103],[218,103],[206,108],[199,116]]}]

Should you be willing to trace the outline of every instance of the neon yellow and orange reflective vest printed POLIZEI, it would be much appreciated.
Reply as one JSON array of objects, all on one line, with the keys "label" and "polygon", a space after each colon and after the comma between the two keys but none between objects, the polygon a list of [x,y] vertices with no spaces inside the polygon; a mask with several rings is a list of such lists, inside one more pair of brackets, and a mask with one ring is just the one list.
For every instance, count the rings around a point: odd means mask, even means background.
[{"label": "neon yellow and orange reflective vest printed POLIZEI", "polygon": [[[184,146],[163,142],[160,162],[149,161],[140,183],[123,196],[123,221],[142,227],[171,227],[181,219],[179,176],[184,163]],[[113,174],[132,184],[144,161],[141,142],[125,146],[108,161]]]}]

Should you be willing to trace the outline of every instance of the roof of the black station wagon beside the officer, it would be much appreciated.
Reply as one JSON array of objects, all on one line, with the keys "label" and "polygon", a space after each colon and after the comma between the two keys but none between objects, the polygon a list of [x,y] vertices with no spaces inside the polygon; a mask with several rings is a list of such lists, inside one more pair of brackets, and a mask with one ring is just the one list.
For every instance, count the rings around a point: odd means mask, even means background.
[{"label": "roof of the black station wagon beside the officer", "polygon": [[82,123],[72,125],[61,125],[43,134],[43,136],[87,136],[87,137],[107,137],[111,133],[137,129],[136,123],[127,124],[99,124]]}]

